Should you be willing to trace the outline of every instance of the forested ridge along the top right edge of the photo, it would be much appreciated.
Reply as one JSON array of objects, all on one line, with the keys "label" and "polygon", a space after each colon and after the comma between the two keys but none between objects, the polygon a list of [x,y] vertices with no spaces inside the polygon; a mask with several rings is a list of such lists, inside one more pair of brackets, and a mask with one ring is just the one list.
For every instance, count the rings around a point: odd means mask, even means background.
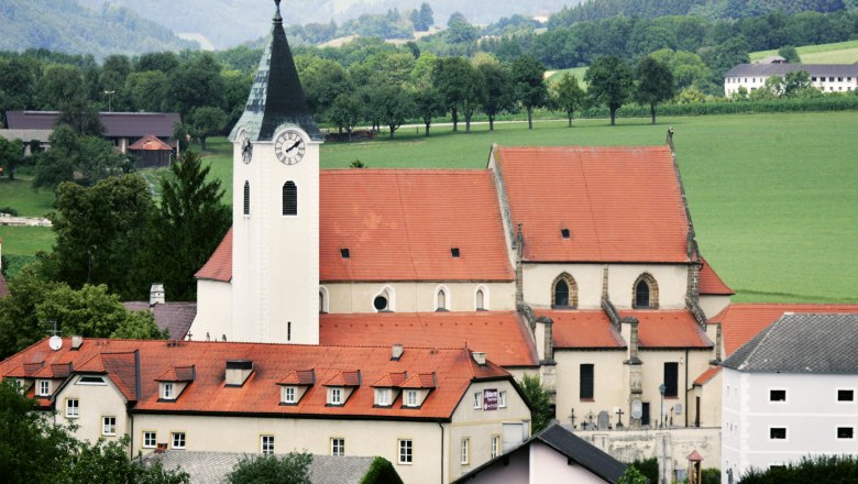
[{"label": "forested ridge along the top right edge of the photo", "polygon": [[571,25],[615,15],[654,18],[692,14],[708,19],[741,19],[774,11],[837,12],[848,8],[858,8],[858,0],[587,0],[576,7],[563,8],[551,18],[551,25]]}]

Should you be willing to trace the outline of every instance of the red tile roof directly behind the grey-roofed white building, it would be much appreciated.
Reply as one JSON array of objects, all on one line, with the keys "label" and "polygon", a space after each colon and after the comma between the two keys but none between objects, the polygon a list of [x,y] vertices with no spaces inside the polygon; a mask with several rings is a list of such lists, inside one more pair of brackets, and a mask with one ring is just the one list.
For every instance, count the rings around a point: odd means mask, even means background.
[{"label": "red tile roof directly behind the grey-roofed white building", "polygon": [[711,318],[710,322],[721,324],[726,358],[784,312],[858,312],[858,305],[733,304]]}]

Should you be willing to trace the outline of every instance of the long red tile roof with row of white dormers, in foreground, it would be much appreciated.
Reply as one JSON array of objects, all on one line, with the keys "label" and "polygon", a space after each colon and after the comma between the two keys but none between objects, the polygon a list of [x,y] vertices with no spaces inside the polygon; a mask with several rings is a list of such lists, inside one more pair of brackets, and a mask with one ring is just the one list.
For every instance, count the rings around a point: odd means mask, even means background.
[{"label": "long red tile roof with row of white dormers, in foreground", "polygon": [[[129,400],[138,391],[134,382],[134,356],[139,355],[140,398],[132,411],[165,413],[252,413],[280,416],[371,416],[381,418],[450,418],[472,382],[509,380],[512,375],[492,362],[479,365],[466,349],[406,348],[398,361],[391,359],[389,346],[315,346],[260,343],[179,342],[138,340],[85,339],[78,351],[69,349],[70,341],[59,351],[51,351],[47,339],[0,362],[0,376],[33,360],[45,364],[70,362],[74,369],[103,369]],[[229,387],[224,381],[228,360],[250,360],[254,372],[241,387]],[[173,403],[158,402],[157,377],[170,367],[194,364],[196,380]],[[40,363],[41,365],[41,363]],[[41,366],[40,366],[41,367]],[[328,382],[343,373],[361,372],[361,386],[354,388],[342,407],[327,406],[327,391],[322,385],[310,386],[298,405],[279,405],[278,383],[295,369],[314,369],[319,382]],[[394,403],[391,408],[375,408],[375,382],[391,373],[408,372],[427,387],[437,385],[419,409],[403,409]],[[428,375],[428,376],[426,376]],[[409,382],[405,382],[408,384]],[[431,386],[429,386],[431,387]]]}]

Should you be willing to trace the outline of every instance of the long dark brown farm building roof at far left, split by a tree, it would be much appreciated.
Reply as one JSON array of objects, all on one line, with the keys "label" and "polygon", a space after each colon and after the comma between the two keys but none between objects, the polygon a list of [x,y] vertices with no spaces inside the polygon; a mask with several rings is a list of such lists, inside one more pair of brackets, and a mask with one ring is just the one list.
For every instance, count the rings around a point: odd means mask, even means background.
[{"label": "long dark brown farm building roof at far left, split by a tree", "polygon": [[[107,138],[173,138],[173,129],[182,122],[177,112],[99,112]],[[7,111],[10,130],[53,130],[59,111]]]}]

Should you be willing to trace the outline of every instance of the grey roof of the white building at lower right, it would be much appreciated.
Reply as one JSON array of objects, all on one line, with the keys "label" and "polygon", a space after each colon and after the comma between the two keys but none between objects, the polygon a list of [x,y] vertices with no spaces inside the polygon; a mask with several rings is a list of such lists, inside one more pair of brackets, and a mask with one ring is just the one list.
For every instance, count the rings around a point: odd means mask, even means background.
[{"label": "grey roof of the white building at lower right", "polygon": [[858,314],[785,314],[723,366],[754,373],[858,374]]}]

